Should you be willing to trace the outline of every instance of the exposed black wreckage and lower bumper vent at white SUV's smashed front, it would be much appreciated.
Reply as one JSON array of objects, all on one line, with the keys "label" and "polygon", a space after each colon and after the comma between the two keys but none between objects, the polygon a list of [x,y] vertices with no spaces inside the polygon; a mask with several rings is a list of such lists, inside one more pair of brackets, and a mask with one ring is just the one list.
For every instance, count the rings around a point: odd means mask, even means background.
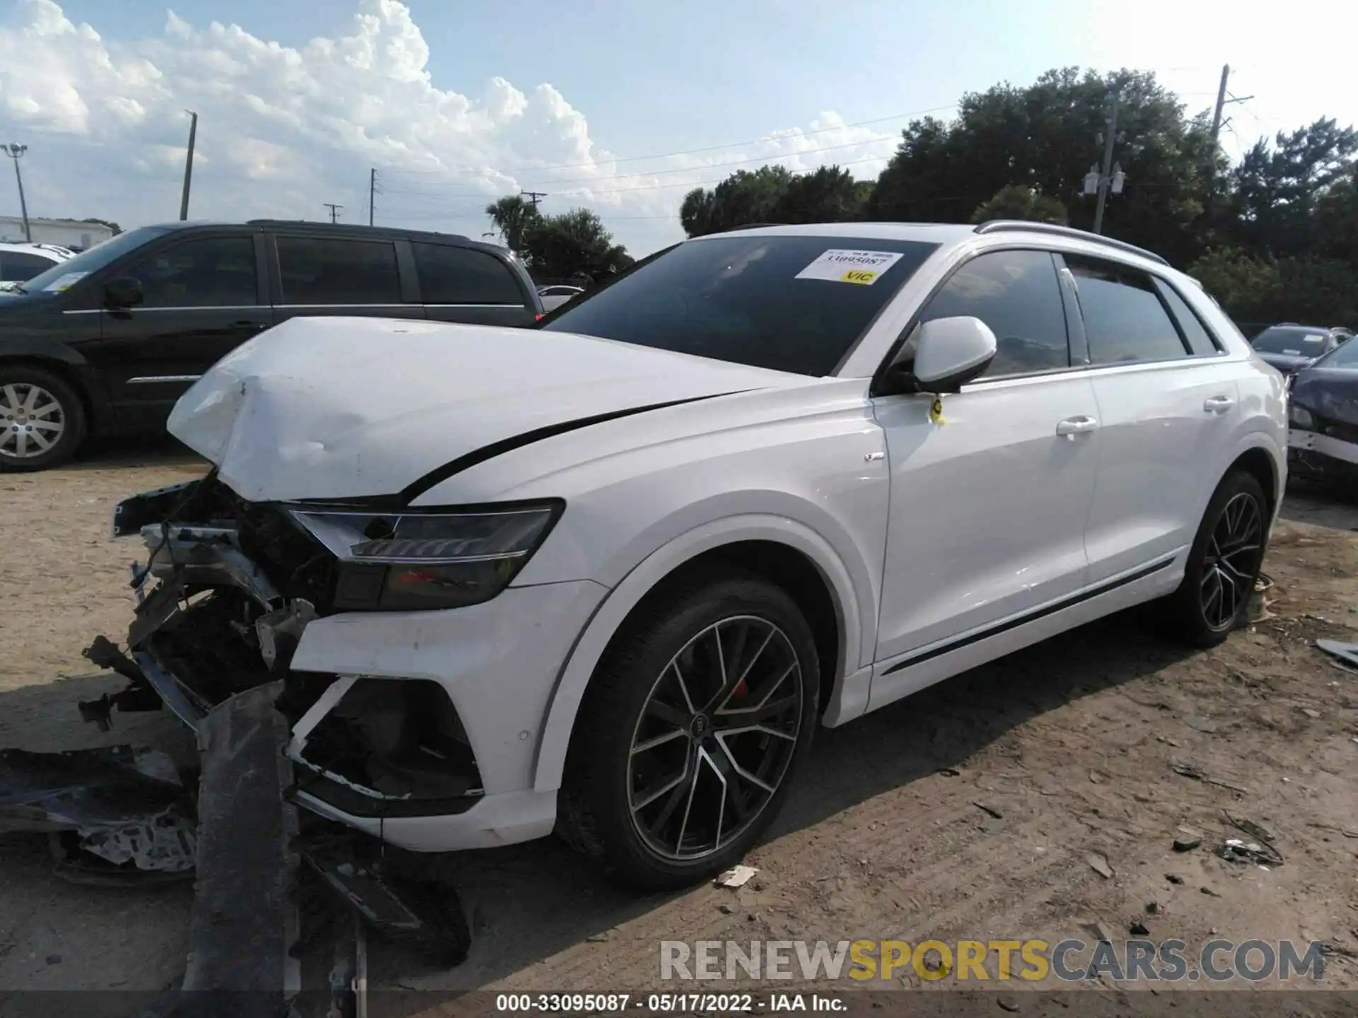
[{"label": "exposed black wreckage and lower bumper vent at white SUV's smashed front", "polygon": [[307,626],[367,596],[371,571],[342,567],[288,506],[247,502],[209,474],[124,501],[113,533],[140,535],[148,558],[133,567],[126,653],[103,638],[86,652],[129,684],[81,703],[87,719],[106,728],[114,710],[163,704],[197,728],[228,698],[281,681],[296,787],[329,816],[454,814],[483,794],[437,683],[291,669]]}]

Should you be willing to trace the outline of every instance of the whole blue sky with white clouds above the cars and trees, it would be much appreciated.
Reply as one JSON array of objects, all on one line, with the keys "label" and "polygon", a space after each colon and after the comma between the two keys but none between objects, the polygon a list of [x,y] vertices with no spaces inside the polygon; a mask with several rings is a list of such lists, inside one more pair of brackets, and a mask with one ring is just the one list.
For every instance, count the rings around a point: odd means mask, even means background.
[{"label": "whole blue sky with white clouds above the cars and trees", "polygon": [[[1350,0],[1351,3],[1351,0]],[[1350,3],[0,0],[0,141],[31,216],[367,223],[479,236],[545,191],[642,255],[735,170],[876,176],[913,117],[1054,67],[1154,71],[1190,114],[1229,64],[1226,152],[1358,124]],[[1080,153],[1097,159],[1100,147]],[[18,189],[0,175],[0,214]]]}]

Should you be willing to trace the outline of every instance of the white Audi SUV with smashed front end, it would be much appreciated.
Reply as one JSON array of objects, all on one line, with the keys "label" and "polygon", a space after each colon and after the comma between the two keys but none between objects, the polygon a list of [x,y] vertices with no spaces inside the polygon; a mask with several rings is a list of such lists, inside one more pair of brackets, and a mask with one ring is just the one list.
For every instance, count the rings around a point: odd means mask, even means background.
[{"label": "white Audi SUV with smashed front end", "polygon": [[281,680],[308,809],[642,888],[737,861],[819,725],[1139,603],[1225,639],[1287,444],[1200,286],[1032,223],[697,238],[534,328],[295,318],[170,430],[212,470],[114,516],[139,683]]}]

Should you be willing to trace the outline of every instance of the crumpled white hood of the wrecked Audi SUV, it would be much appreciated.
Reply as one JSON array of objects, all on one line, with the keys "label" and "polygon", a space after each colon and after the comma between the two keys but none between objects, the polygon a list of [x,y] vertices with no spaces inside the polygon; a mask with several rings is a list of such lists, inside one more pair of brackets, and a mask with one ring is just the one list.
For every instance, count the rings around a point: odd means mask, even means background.
[{"label": "crumpled white hood of the wrecked Audi SUV", "polygon": [[242,498],[357,498],[540,428],[807,381],[572,333],[293,318],[217,361],[168,429]]}]

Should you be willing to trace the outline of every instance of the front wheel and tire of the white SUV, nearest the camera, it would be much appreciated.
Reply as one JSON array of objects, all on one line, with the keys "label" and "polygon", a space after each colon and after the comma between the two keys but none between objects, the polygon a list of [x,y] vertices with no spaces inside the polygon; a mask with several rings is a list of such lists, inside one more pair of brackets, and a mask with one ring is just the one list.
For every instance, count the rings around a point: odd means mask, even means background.
[{"label": "front wheel and tire of the white SUV, nearest the camera", "polygon": [[777,585],[708,573],[661,595],[581,702],[561,835],[640,890],[729,869],[786,799],[819,688],[811,627]]}]

